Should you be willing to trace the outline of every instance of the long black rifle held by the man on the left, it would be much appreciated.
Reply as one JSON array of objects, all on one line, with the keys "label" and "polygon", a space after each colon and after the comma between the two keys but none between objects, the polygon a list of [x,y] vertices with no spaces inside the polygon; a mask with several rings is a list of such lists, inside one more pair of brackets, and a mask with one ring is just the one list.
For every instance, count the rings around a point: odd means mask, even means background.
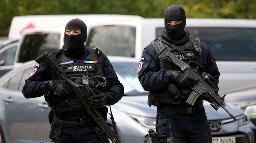
[{"label": "long black rifle held by the man on the left", "polygon": [[[88,98],[91,94],[95,95],[93,90],[90,88],[88,84],[75,84],[70,79],[64,76],[64,71],[60,68],[60,66],[56,63],[56,61],[49,55],[47,52],[42,54],[35,60],[37,63],[45,63],[49,68],[51,68],[54,72],[56,72],[60,77],[62,77],[66,83],[73,89],[77,97],[80,99],[82,104],[85,106],[86,111],[98,125],[94,130],[98,135],[106,135],[113,143],[121,143],[118,138],[118,134],[114,133],[114,131],[110,128],[110,126],[105,122],[102,115],[96,109],[92,108],[88,104]],[[113,121],[112,121],[113,122]],[[116,131],[117,132],[117,131]],[[102,139],[102,138],[101,138]],[[104,141],[102,139],[102,141]]]}]

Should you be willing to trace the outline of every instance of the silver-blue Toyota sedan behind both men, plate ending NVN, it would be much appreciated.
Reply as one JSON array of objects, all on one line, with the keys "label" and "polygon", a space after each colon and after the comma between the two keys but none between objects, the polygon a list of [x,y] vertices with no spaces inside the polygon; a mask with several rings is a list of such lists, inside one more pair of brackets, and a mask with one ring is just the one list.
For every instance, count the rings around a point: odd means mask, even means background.
[{"label": "silver-blue Toyota sedan behind both men, plate ending NVN", "polygon": [[[124,85],[125,95],[111,106],[122,143],[142,143],[148,130],[155,128],[156,107],[147,105],[147,94],[138,81],[138,60],[108,57]],[[34,69],[29,61],[0,78],[0,135],[1,143],[51,143],[50,124],[44,96],[26,99],[22,94],[25,79]],[[212,130],[213,143],[255,143],[255,125],[243,110],[227,103],[227,109],[238,119],[233,121],[223,110],[215,111],[204,102]],[[107,123],[111,125],[110,117]],[[150,142],[150,140],[147,140]]]}]

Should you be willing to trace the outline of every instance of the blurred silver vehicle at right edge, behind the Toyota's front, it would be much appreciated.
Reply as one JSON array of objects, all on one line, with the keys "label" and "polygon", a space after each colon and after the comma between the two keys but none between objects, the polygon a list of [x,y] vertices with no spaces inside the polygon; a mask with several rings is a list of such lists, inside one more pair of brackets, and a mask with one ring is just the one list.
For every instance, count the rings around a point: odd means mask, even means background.
[{"label": "blurred silver vehicle at right edge, behind the Toyota's front", "polygon": [[256,125],[256,84],[228,91],[225,100],[243,109],[252,123]]}]

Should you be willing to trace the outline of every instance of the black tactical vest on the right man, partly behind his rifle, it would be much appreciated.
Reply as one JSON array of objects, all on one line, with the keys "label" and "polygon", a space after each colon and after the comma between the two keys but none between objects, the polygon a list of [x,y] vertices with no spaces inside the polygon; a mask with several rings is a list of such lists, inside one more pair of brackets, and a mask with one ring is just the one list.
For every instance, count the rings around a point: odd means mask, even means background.
[{"label": "black tactical vest on the right man, partly behind his rifle", "polygon": [[[155,39],[151,42],[151,44],[156,49],[157,54],[160,53],[165,47],[171,48],[171,52],[176,55],[178,58],[183,60],[184,62],[188,63],[189,59],[191,61],[196,62],[197,64],[203,65],[201,55],[195,51],[195,47],[200,47],[200,41],[198,38],[190,37],[190,40],[180,46],[175,46],[167,42],[162,37],[159,37],[158,39]],[[179,53],[175,48],[181,50],[184,52],[184,54]],[[189,59],[187,58],[189,57]],[[160,62],[160,69],[166,69],[166,70],[180,70],[180,67],[173,64],[168,59],[159,60]],[[190,63],[190,66],[198,73],[201,74],[203,70],[198,67],[194,62]],[[175,84],[175,83],[174,83]],[[176,84],[177,85],[177,84]],[[168,91],[169,87],[159,89],[159,90],[151,90],[149,91],[149,97],[148,97],[148,104],[157,106],[158,104],[161,105],[170,105],[170,104],[180,104],[181,102],[186,102],[188,96],[192,92],[190,87],[185,86],[179,86],[177,85],[178,91],[181,93],[179,96],[172,95]],[[185,103],[184,103],[185,104]]]}]

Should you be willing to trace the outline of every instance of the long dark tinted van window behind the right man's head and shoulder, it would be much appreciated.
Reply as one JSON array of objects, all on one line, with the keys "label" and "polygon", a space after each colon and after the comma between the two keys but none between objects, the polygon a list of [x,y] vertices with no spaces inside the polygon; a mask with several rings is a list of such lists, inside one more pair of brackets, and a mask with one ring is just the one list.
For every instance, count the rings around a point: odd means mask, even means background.
[{"label": "long dark tinted van window behind the right man's head and shoulder", "polygon": [[[256,28],[186,27],[192,37],[207,44],[217,61],[256,61]],[[161,36],[164,27],[156,29]],[[161,33],[161,34],[159,34]]]}]

